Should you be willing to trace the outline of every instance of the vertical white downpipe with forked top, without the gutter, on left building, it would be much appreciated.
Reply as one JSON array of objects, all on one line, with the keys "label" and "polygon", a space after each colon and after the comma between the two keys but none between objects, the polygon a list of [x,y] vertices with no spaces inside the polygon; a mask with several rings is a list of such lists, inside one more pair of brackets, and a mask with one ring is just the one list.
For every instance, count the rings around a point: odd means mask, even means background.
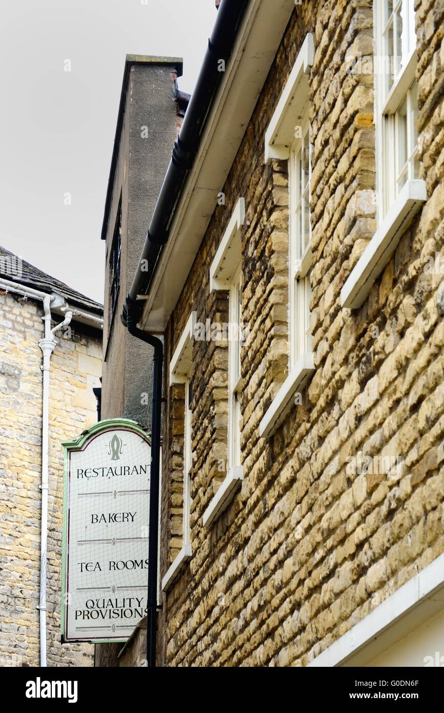
[{"label": "vertical white downpipe with forked top, without the gutter, on left building", "polygon": [[51,329],[51,296],[43,297],[43,322],[45,337],[38,342],[43,353],[43,406],[41,416],[41,534],[40,534],[40,665],[46,666],[46,563],[48,543],[48,451],[49,451],[49,369],[51,354],[56,348],[55,333],[68,326],[73,317],[66,312],[65,319]]}]

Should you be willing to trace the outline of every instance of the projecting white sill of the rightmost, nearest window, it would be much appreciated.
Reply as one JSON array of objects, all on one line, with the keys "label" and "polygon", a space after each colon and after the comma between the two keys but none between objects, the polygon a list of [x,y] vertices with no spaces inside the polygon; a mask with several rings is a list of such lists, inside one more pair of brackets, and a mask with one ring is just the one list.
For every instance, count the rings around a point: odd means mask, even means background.
[{"label": "projecting white sill of the rightmost, nearest window", "polygon": [[401,235],[425,200],[425,181],[408,180],[346,279],[341,289],[342,307],[361,307],[376,277],[396,250]]}]

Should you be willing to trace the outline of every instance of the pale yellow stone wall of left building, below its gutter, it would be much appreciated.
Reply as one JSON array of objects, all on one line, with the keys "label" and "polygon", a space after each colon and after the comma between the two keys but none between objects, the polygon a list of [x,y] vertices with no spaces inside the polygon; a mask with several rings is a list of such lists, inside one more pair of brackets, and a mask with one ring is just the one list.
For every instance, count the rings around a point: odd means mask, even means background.
[{"label": "pale yellow stone wall of left building, below its gutter", "polygon": [[[43,306],[0,294],[0,665],[39,665]],[[60,321],[60,318],[57,319]],[[61,645],[63,448],[97,421],[102,335],[76,322],[51,356],[48,666],[91,666],[93,645]]]}]

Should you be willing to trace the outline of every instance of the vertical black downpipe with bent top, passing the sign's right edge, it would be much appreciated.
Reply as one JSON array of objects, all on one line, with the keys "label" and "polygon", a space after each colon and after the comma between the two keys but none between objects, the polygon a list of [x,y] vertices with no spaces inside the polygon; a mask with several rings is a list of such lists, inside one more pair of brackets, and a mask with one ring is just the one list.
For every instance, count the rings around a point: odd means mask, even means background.
[{"label": "vertical black downpipe with bent top, passing the sign's right edge", "polygon": [[148,529],[147,661],[155,667],[156,623],[158,612],[158,521],[160,473],[160,420],[162,408],[163,344],[157,337],[138,329],[128,316],[128,332],[154,347],[153,411],[151,419],[150,520]]}]

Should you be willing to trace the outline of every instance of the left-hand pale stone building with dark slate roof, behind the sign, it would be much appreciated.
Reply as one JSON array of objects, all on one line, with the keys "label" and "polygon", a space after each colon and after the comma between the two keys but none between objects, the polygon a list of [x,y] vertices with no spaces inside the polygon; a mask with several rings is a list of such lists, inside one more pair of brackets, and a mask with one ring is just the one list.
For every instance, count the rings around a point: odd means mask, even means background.
[{"label": "left-hand pale stone building with dark slate roof, behind the sign", "polygon": [[61,441],[97,421],[102,322],[101,304],[0,248],[2,666],[93,665],[91,644],[61,644]]}]

